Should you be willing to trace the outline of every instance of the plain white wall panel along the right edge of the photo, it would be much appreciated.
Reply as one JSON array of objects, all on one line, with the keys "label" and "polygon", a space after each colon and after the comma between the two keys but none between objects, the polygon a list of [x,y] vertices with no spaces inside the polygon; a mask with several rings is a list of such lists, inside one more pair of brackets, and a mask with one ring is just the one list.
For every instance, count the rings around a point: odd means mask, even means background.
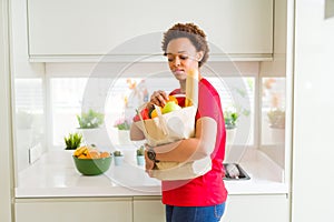
[{"label": "plain white wall panel along the right edge of the photo", "polygon": [[334,18],[296,0],[292,221],[333,221]]}]

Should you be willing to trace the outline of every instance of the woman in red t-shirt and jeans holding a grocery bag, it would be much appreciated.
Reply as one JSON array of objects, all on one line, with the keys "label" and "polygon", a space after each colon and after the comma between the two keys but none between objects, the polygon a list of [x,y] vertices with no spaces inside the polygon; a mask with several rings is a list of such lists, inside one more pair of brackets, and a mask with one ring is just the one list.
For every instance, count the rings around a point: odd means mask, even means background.
[{"label": "woman in red t-shirt and jeans holding a grocery bag", "polygon": [[[155,161],[187,162],[210,157],[212,170],[189,181],[163,181],[163,203],[166,204],[167,222],[219,221],[225,211],[227,191],[224,185],[223,160],[226,131],[220,99],[215,88],[200,74],[199,68],[208,59],[206,34],[193,23],[177,23],[164,33],[163,50],[179,89],[170,94],[185,93],[187,73],[198,70],[198,110],[195,138],[149,148],[146,151],[146,171],[150,173]],[[164,105],[168,95],[156,91],[150,97],[153,104]],[[179,101],[184,105],[184,101]],[[131,125],[131,140],[143,140],[144,134]]]}]

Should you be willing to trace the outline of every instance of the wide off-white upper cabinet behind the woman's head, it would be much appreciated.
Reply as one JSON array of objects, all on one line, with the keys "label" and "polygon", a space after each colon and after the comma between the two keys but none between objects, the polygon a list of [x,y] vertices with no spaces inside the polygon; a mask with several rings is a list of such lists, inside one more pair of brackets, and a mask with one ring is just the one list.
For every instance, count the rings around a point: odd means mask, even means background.
[{"label": "wide off-white upper cabinet behind the woman's head", "polygon": [[163,32],[197,23],[216,58],[271,58],[273,0],[28,0],[31,61],[161,53]]}]

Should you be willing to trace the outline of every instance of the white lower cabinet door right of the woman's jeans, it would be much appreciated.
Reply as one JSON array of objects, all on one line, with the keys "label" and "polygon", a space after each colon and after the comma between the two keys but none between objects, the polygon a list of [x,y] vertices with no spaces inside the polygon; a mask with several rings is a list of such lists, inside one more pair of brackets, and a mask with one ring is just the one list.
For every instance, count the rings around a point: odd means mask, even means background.
[{"label": "white lower cabinet door right of the woman's jeans", "polygon": [[222,222],[288,222],[288,199],[277,195],[229,195]]}]

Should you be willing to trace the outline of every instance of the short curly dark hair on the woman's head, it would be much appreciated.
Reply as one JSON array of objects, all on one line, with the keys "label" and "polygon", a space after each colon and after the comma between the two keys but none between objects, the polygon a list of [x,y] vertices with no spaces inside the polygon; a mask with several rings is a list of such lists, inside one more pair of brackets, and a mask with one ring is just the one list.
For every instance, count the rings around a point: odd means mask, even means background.
[{"label": "short curly dark hair on the woman's head", "polygon": [[208,43],[206,41],[206,34],[202,29],[199,29],[194,23],[177,23],[174,24],[167,32],[164,33],[163,39],[163,51],[166,56],[166,49],[168,43],[178,38],[187,38],[194,44],[197,51],[203,51],[204,56],[200,61],[198,61],[198,67],[202,67],[208,59]]}]

